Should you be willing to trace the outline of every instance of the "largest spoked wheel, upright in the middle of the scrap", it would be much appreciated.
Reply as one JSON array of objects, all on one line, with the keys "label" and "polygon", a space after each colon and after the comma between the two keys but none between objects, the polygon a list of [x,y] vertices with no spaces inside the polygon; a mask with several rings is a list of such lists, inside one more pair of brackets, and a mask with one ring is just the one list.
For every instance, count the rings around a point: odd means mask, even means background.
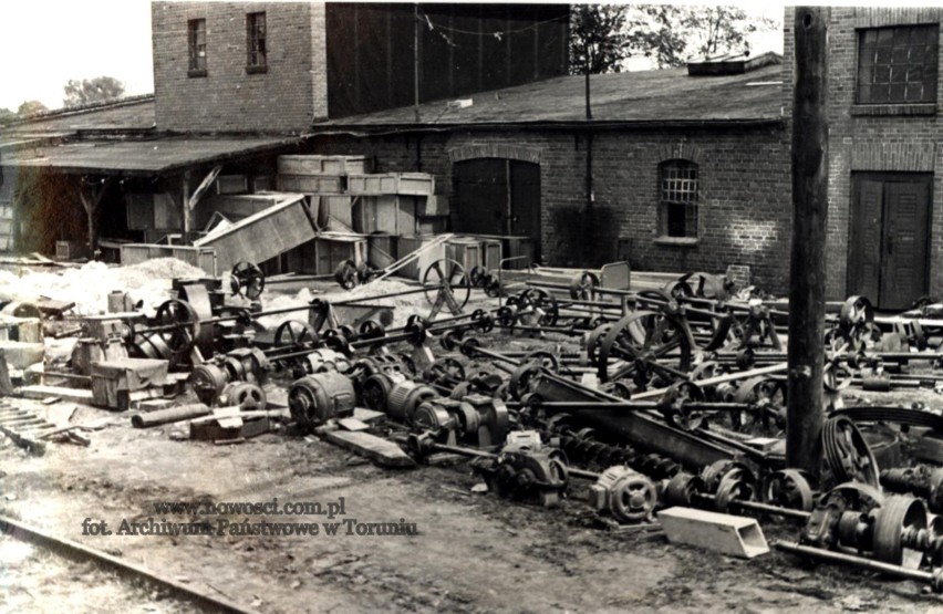
[{"label": "largest spoked wheel, upright in the middle of the scrap", "polygon": [[678,319],[636,311],[612,325],[597,355],[601,382],[632,377],[646,387],[655,377],[666,383],[686,379],[694,340]]}]

